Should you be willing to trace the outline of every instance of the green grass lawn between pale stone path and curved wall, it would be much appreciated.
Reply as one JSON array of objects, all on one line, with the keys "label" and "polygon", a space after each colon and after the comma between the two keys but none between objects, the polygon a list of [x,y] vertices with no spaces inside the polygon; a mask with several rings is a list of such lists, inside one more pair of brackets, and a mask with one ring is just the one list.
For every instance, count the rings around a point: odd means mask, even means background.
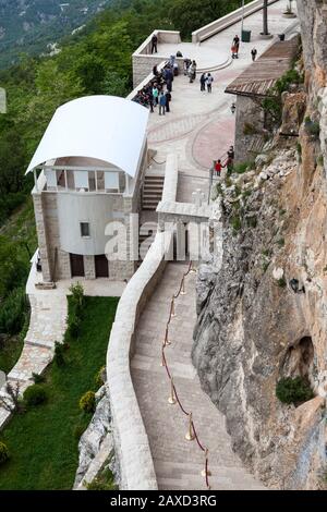
[{"label": "green grass lawn between pale stone path and curved wall", "polygon": [[[15,415],[0,439],[11,459],[0,468],[0,489],[71,489],[78,463],[78,437],[90,414],[78,407],[81,397],[96,390],[95,374],[104,365],[118,298],[85,297],[78,340],[70,343],[65,364],[46,373],[48,400]],[[71,301],[70,301],[71,313]]]}]

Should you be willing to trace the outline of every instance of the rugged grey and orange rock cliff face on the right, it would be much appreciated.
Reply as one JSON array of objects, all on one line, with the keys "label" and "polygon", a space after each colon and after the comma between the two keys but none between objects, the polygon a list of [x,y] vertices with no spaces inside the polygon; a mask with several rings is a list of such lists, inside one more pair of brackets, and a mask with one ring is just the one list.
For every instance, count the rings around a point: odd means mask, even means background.
[{"label": "rugged grey and orange rock cliff face on the right", "polygon": [[[298,1],[304,90],[283,97],[283,125],[256,170],[222,186],[222,257],[199,270],[193,362],[226,414],[233,447],[268,485],[326,481],[327,4]],[[314,398],[286,405],[282,377]],[[325,476],[324,476],[325,475]]]}]

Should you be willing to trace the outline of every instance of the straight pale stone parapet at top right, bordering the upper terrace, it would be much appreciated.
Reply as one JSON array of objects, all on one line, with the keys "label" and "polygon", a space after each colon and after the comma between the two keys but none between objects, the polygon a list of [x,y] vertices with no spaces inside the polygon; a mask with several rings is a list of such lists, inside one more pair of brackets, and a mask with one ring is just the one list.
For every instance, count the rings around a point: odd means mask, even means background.
[{"label": "straight pale stone parapet at top right, bordering the upper terrace", "polygon": [[[275,3],[279,0],[269,0],[268,4],[270,5],[271,3]],[[244,7],[244,17],[250,16],[251,14],[255,13],[256,11],[259,11],[263,9],[263,0],[254,0],[251,3],[247,3]],[[202,42],[209,37],[215,36],[219,32],[225,31],[229,26],[233,25],[234,23],[238,23],[242,20],[243,15],[243,9],[237,9],[237,11],[231,12],[230,14],[227,14],[223,17],[220,17],[219,20],[216,20],[215,22],[209,23],[208,25],[205,25],[197,31],[194,31],[192,33],[192,42]]]}]

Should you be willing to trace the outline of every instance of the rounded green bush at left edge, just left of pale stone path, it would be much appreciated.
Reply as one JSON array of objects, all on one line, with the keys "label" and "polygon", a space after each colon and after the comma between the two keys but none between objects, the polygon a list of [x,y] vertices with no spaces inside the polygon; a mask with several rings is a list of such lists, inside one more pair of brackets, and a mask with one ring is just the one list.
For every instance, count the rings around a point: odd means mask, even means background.
[{"label": "rounded green bush at left edge, just left of pale stone path", "polygon": [[17,334],[24,325],[28,303],[24,288],[13,290],[0,308],[0,332]]}]

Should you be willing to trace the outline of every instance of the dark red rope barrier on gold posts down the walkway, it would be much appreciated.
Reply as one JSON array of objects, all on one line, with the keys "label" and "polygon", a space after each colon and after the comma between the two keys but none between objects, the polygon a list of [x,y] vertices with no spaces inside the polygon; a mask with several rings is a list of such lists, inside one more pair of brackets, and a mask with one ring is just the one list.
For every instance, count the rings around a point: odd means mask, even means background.
[{"label": "dark red rope barrier on gold posts down the walkway", "polygon": [[189,276],[189,273],[194,273],[194,272],[196,272],[196,270],[193,267],[193,261],[190,261],[187,271],[183,272],[183,277],[182,277],[182,280],[181,280],[179,291],[178,291],[178,293],[172,295],[172,298],[170,301],[169,318],[168,318],[168,321],[167,321],[167,325],[166,325],[165,339],[164,339],[162,349],[161,349],[161,357],[162,357],[161,358],[161,366],[165,366],[166,371],[167,371],[167,376],[170,380],[170,395],[168,398],[168,403],[171,404],[171,405],[174,405],[175,403],[178,403],[179,406],[180,406],[180,410],[182,411],[182,413],[185,416],[189,416],[189,430],[185,435],[185,438],[189,441],[193,441],[195,439],[198,448],[205,453],[205,465],[204,465],[204,470],[202,471],[202,476],[205,477],[207,489],[210,489],[208,477],[211,474],[208,470],[208,449],[205,448],[202,444],[202,442],[199,441],[199,438],[198,438],[198,435],[197,435],[197,431],[196,431],[196,428],[195,428],[195,425],[194,425],[194,422],[193,422],[192,412],[187,412],[182,405],[182,402],[181,402],[181,400],[179,398],[179,394],[177,392],[177,389],[175,389],[175,386],[174,386],[174,382],[173,382],[173,378],[172,378],[171,371],[169,369],[167,358],[166,358],[166,354],[165,354],[165,350],[166,350],[167,345],[171,344],[171,342],[169,341],[169,325],[171,322],[171,318],[173,318],[175,316],[174,301],[180,295],[184,295],[186,293],[185,292],[185,278]]}]

